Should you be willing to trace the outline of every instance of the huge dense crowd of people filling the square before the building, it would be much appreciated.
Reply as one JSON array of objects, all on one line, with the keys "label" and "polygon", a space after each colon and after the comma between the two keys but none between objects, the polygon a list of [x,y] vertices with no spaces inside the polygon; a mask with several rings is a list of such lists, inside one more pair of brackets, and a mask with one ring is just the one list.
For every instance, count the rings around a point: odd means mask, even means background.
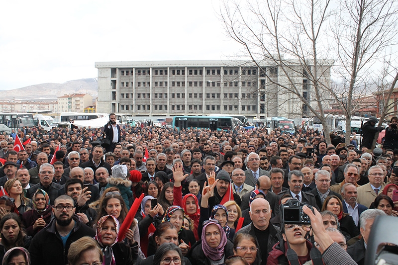
[{"label": "huge dense crowd of people filling the square before the building", "polygon": [[[376,216],[398,216],[387,133],[387,146],[358,150],[355,136],[346,146],[332,133],[327,144],[304,127],[178,130],[109,118],[99,129],[0,134],[2,264],[361,265]],[[303,207],[310,225],[283,220],[280,205],[292,200],[312,206]]]}]

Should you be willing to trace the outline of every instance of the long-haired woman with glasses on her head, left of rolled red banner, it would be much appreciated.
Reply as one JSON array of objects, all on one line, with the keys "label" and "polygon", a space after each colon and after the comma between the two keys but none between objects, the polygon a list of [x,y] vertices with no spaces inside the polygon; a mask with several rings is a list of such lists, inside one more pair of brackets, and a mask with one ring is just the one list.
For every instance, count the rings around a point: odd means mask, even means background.
[{"label": "long-haired woman with glasses on her head, left of rolled red banner", "polygon": [[[112,215],[119,221],[120,225],[123,223],[127,216],[127,207],[121,196],[120,192],[117,190],[107,188],[102,194],[100,200],[100,208],[98,209],[97,223],[101,217],[105,215]],[[114,191],[109,191],[114,190]],[[126,231],[126,237],[124,243],[128,245],[128,241],[134,239],[134,241],[140,242],[140,234],[138,231],[138,221],[134,218],[131,226]]]}]

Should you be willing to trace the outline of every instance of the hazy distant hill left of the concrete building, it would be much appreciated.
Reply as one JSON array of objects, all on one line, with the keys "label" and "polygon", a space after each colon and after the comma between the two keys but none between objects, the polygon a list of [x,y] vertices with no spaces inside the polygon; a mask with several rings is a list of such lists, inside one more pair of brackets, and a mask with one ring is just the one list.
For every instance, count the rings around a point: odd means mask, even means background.
[{"label": "hazy distant hill left of the concrete building", "polygon": [[97,97],[98,92],[97,78],[79,79],[67,81],[63,84],[44,83],[32,85],[24,88],[11,90],[0,90],[1,100],[43,100],[56,99],[64,94],[88,93]]}]

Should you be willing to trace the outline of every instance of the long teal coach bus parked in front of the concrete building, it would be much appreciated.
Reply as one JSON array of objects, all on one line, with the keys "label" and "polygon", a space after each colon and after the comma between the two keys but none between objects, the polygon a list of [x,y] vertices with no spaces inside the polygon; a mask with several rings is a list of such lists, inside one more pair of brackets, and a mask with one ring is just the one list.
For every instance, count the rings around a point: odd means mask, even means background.
[{"label": "long teal coach bus parked in front of the concrete building", "polygon": [[212,131],[231,130],[236,126],[243,126],[237,118],[230,116],[174,116],[173,128],[178,130],[187,128],[210,129]]}]

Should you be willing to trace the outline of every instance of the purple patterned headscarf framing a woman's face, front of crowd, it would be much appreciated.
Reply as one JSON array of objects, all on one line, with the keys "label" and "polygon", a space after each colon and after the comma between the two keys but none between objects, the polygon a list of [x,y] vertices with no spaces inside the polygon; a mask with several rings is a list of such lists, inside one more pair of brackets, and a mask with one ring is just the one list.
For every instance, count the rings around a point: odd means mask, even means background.
[{"label": "purple patterned headscarf framing a woman's face, front of crowd", "polygon": [[[211,248],[207,244],[207,241],[206,241],[206,227],[209,225],[216,225],[218,227],[218,229],[220,230],[220,234],[221,234],[220,244],[216,248]],[[208,259],[210,259],[212,261],[221,260],[222,256],[224,256],[224,247],[227,244],[227,236],[226,236],[224,230],[222,229],[220,223],[218,222],[218,220],[214,219],[214,220],[205,221],[203,223],[201,239],[202,239],[201,244],[202,244],[202,250],[203,250],[204,256],[206,256]]]}]

